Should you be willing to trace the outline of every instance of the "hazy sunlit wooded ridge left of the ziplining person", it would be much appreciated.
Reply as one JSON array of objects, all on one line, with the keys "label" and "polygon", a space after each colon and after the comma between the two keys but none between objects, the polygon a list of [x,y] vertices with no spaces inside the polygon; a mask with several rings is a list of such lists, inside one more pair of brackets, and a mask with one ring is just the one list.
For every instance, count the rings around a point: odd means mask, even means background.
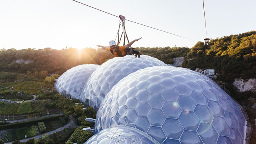
[{"label": "hazy sunlit wooded ridge left of the ziplining person", "polygon": [[[19,72],[26,74],[29,72],[47,71],[48,73],[58,72],[62,74],[66,70],[81,64],[99,64],[101,65],[114,56],[105,50],[96,50],[93,48],[68,48],[54,50],[44,49],[1,49],[0,50],[0,71]],[[29,60],[30,63],[17,63],[16,60]],[[31,62],[32,61],[32,62]]]}]

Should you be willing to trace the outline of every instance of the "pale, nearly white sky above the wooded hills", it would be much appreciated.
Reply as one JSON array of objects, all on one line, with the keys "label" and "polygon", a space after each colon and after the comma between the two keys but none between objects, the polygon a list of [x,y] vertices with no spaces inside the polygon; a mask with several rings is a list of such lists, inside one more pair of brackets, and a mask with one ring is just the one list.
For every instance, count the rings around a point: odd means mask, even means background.
[{"label": "pale, nearly white sky above the wooded hills", "polygon": [[[127,20],[133,47],[189,47],[206,37],[202,0],[77,0]],[[207,37],[256,30],[256,0],[204,0]],[[0,49],[97,48],[115,40],[119,18],[73,0],[0,0]],[[190,40],[193,39],[193,40]]]}]

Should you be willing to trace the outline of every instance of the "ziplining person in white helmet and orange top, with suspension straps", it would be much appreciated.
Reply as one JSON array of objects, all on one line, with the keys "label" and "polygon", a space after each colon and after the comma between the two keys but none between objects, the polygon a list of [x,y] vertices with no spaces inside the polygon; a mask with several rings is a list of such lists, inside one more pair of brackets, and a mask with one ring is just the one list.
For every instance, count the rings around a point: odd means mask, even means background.
[{"label": "ziplining person in white helmet and orange top, with suspension straps", "polygon": [[[105,50],[110,51],[113,55],[115,55],[115,57],[124,57],[126,55],[134,55],[135,58],[138,56],[138,58],[140,58],[141,53],[138,50],[135,50],[135,48],[132,48],[131,45],[135,42],[138,41],[139,39],[135,39],[131,42],[129,42],[128,36],[126,34],[126,30],[125,30],[125,24],[124,24],[124,20],[125,17],[123,15],[119,15],[120,17],[120,21],[119,21],[119,28],[117,31],[117,35],[118,35],[118,42],[116,44],[116,42],[114,40],[109,41],[109,46],[110,47],[106,47],[106,46],[101,46],[101,45],[97,45],[98,47],[104,48]],[[123,31],[121,33],[121,37],[119,39],[119,30],[120,30],[120,26],[122,24],[123,27]],[[121,41],[122,35],[124,34],[124,46],[119,46],[119,43]],[[125,41],[128,41],[128,44],[125,45]]]}]

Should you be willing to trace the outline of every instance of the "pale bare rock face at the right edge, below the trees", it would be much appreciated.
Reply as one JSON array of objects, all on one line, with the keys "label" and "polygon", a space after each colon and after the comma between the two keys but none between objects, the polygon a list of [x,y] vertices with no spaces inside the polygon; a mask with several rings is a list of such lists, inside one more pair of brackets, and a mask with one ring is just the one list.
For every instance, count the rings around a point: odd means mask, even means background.
[{"label": "pale bare rock face at the right edge, below the trees", "polygon": [[256,92],[256,79],[248,79],[246,82],[243,79],[235,79],[233,85],[239,89],[239,92],[245,92],[248,90]]}]

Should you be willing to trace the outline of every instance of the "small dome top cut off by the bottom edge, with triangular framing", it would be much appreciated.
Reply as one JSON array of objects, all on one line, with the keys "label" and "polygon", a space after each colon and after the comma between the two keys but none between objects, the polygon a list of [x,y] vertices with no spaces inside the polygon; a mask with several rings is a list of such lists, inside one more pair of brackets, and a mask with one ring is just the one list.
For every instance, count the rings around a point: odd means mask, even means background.
[{"label": "small dome top cut off by the bottom edge, with triangular framing", "polygon": [[90,137],[84,144],[157,144],[158,142],[131,127],[104,129]]}]

